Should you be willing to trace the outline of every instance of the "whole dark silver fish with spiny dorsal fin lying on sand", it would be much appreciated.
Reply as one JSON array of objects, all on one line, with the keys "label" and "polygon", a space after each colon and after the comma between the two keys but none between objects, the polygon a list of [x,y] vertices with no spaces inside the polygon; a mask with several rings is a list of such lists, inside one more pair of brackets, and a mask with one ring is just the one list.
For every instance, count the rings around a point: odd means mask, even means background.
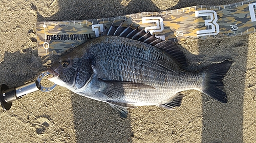
[{"label": "whole dark silver fish with spiny dorsal fin lying on sand", "polygon": [[198,90],[227,103],[222,82],[231,62],[214,64],[199,72],[187,66],[183,52],[172,43],[131,26],[105,27],[104,36],[63,54],[48,71],[55,84],[74,93],[109,103],[122,117],[127,108],[180,106],[185,90]]}]

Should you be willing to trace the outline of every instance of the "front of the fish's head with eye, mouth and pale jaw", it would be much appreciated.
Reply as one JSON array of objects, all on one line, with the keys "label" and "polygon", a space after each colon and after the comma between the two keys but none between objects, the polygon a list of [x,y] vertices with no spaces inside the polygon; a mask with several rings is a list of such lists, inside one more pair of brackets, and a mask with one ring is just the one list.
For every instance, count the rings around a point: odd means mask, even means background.
[{"label": "front of the fish's head with eye, mouth and pale jaw", "polygon": [[70,54],[61,56],[47,71],[53,75],[48,80],[57,85],[71,89],[74,87],[80,58]]}]

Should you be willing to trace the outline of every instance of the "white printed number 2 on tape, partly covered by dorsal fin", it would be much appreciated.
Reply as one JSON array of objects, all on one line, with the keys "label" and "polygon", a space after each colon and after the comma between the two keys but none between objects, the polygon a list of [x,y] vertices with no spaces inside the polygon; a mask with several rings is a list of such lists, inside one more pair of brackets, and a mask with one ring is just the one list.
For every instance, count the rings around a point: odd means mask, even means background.
[{"label": "white printed number 2 on tape, partly covered by dorsal fin", "polygon": [[[153,35],[153,33],[155,32],[163,31],[163,18],[161,17],[142,17],[141,21],[142,23],[154,23],[154,26],[145,27],[145,32],[150,31],[150,33]],[[161,38],[162,40],[165,40],[164,35],[156,36],[156,37]]]}]

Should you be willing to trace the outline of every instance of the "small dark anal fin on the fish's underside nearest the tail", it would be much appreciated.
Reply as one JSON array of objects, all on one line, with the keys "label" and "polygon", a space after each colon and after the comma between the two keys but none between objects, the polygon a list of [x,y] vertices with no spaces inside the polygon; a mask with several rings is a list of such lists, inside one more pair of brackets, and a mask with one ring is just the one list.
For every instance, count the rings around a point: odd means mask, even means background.
[{"label": "small dark anal fin on the fish's underside nearest the tail", "polygon": [[162,107],[162,108],[165,108],[168,110],[175,110],[176,106],[181,105],[181,101],[182,101],[182,98],[184,97],[184,95],[182,93],[177,93],[176,96],[177,97],[174,100],[170,101],[169,103],[161,104],[161,105],[159,105],[159,107]]}]

